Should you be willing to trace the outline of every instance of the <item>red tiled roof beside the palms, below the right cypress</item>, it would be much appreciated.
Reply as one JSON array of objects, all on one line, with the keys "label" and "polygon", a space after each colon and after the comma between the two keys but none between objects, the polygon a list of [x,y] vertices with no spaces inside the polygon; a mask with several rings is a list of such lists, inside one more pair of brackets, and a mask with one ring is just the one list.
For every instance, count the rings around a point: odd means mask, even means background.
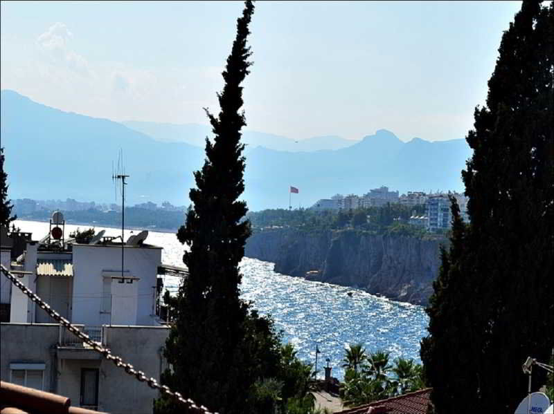
[{"label": "red tiled roof beside the palms, below the right cypress", "polygon": [[427,414],[432,388],[399,395],[340,411],[336,414]]}]

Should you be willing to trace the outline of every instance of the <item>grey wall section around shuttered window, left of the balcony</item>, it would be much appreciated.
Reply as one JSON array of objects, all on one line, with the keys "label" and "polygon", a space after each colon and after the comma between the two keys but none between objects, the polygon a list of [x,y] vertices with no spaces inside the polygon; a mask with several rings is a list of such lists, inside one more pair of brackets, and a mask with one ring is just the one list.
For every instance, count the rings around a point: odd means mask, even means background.
[{"label": "grey wall section around shuttered window, left of the balcony", "polygon": [[44,391],[55,392],[55,348],[59,328],[53,323],[1,323],[0,378],[10,381],[11,362],[40,362],[44,370]]}]

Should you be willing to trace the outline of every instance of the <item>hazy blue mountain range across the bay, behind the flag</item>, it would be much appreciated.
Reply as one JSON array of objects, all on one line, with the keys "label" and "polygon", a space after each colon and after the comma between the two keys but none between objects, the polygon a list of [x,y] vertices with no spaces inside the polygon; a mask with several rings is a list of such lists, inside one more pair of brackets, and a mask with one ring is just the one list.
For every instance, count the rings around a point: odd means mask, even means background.
[{"label": "hazy blue mountain range across the bay, behind the flag", "polygon": [[[122,124],[53,109],[14,91],[1,91],[0,108],[10,198],[110,202],[115,198],[112,161],[123,149],[129,205],[189,203],[193,171],[204,162],[198,145],[209,135],[208,126]],[[338,137],[311,140],[312,148],[341,142]],[[460,171],[471,154],[465,140],[402,142],[384,129],[349,147],[311,152],[305,151],[310,140],[296,143],[269,133],[245,132],[244,141],[249,144],[244,199],[252,210],[287,207],[289,185],[300,189],[293,207],[309,207],[337,192],[364,194],[381,185],[401,193],[461,191]],[[305,147],[298,145],[304,142]],[[296,152],[275,149],[295,145]]]}]

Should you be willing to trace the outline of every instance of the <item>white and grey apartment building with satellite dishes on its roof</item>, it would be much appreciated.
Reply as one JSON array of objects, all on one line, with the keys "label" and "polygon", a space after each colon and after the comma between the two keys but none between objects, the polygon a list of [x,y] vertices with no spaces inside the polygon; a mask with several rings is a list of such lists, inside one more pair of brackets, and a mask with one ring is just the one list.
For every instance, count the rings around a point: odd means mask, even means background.
[{"label": "white and grey apartment building with satellite dishes on its roof", "polygon": [[[19,240],[16,240],[19,237]],[[24,241],[24,253],[14,254]],[[93,340],[159,379],[168,328],[158,316],[164,272],[161,247],[97,238],[89,244],[6,237],[1,263]],[[19,253],[19,252],[15,252]],[[175,267],[172,270],[175,271]],[[123,277],[122,277],[123,275]],[[66,395],[80,406],[109,413],[152,413],[157,391],[102,359],[66,331],[1,274],[0,377]],[[9,309],[9,310],[8,310]]]}]

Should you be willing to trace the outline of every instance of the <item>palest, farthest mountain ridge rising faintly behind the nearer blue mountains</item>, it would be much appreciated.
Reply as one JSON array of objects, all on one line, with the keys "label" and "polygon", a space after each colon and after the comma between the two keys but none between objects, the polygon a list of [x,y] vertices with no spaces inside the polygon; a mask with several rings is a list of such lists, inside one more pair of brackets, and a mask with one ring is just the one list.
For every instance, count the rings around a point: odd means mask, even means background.
[{"label": "palest, farthest mountain ridge rising faintly behind the nearer blue mountains", "polygon": [[[206,137],[212,138],[211,127],[202,124],[167,124],[160,122],[125,121],[121,122],[130,129],[150,135],[163,142],[186,142],[204,148]],[[266,147],[276,151],[320,151],[321,149],[339,149],[355,144],[336,135],[292,140],[272,133],[248,131],[242,133],[244,144],[250,147]]]}]

